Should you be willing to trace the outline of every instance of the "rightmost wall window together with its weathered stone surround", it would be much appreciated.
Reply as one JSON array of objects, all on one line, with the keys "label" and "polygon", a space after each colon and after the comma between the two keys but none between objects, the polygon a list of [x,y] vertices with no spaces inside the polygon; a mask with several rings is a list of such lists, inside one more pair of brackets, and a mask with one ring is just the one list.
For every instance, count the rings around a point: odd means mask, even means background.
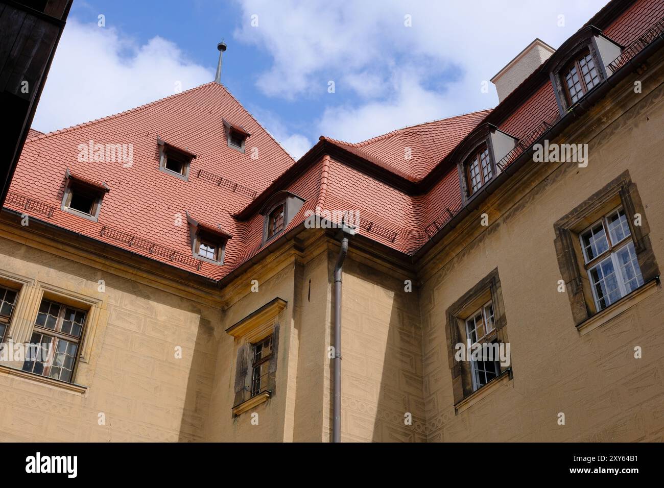
[{"label": "rightmost wall window together with its weathered stone surround", "polygon": [[625,306],[637,303],[647,296],[637,289],[659,282],[645,210],[624,171],[554,223],[560,276],[579,331],[609,321],[608,314],[590,319],[626,295],[636,301],[625,299]]}]

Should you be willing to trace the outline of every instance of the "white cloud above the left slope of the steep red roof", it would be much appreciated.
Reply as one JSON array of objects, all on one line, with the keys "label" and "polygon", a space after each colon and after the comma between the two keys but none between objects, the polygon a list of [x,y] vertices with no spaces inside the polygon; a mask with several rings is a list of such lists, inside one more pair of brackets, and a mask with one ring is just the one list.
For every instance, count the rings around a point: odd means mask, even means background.
[{"label": "white cloud above the left slope of the steep red roof", "polygon": [[88,122],[188,90],[214,79],[173,42],[139,45],[125,33],[72,18],[48,73],[33,127],[48,132]]}]

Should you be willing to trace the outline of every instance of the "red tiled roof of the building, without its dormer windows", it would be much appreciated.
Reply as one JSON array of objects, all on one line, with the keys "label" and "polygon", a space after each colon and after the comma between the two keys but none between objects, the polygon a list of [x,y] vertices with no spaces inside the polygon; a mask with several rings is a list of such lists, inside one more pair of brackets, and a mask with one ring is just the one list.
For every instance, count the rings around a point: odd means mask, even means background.
[{"label": "red tiled roof of the building, without its dormer windows", "polygon": [[[663,15],[661,0],[639,0],[604,26],[605,33],[627,44]],[[294,163],[226,88],[208,83],[115,116],[29,139],[5,205],[21,212],[28,205],[27,212],[37,218],[213,279],[226,276],[264,248],[263,216],[250,204],[255,197],[254,206],[260,206],[279,190],[305,199],[287,231],[301,224],[307,211],[357,211],[360,234],[414,254],[428,239],[428,226],[434,220],[446,222],[461,209],[456,167],[444,170],[445,158],[477,125],[503,114],[504,107],[505,101],[493,111],[405,127],[361,143],[321,137]],[[552,86],[546,80],[516,110],[492,122],[521,138],[557,111]],[[251,134],[245,153],[226,144],[224,120]],[[157,137],[197,155],[188,181],[158,171]],[[78,161],[78,145],[88,145],[90,140],[131,144],[133,162]],[[251,157],[254,147],[258,159]],[[438,170],[443,172],[419,195],[366,167],[317,152],[326,147],[360,158],[378,173],[410,185],[422,184]],[[410,159],[404,157],[408,148]],[[98,222],[60,210],[67,169],[110,187]],[[187,212],[208,228],[232,234],[223,266],[191,257]],[[238,214],[242,218],[235,217]]]}]

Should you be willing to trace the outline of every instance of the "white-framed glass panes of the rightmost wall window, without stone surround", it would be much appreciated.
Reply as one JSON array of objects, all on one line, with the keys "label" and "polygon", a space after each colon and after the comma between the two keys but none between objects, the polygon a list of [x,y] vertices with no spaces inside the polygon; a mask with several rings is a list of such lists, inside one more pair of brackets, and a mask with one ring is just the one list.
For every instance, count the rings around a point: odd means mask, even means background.
[{"label": "white-framed glass panes of the rightmost wall window, without stone surround", "polygon": [[634,242],[622,207],[580,234],[588,279],[597,311],[643,285]]}]

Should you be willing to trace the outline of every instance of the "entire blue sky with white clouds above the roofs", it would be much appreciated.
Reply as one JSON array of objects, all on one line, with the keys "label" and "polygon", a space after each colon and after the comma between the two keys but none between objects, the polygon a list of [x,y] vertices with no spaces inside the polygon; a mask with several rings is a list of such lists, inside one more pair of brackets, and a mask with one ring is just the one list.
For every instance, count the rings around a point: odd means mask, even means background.
[{"label": "entire blue sky with white clouds above the roofs", "polygon": [[223,38],[222,83],[299,157],[321,134],[357,142],[495,106],[483,82],[535,37],[556,48],[605,3],[74,0],[33,127],[208,82]]}]

